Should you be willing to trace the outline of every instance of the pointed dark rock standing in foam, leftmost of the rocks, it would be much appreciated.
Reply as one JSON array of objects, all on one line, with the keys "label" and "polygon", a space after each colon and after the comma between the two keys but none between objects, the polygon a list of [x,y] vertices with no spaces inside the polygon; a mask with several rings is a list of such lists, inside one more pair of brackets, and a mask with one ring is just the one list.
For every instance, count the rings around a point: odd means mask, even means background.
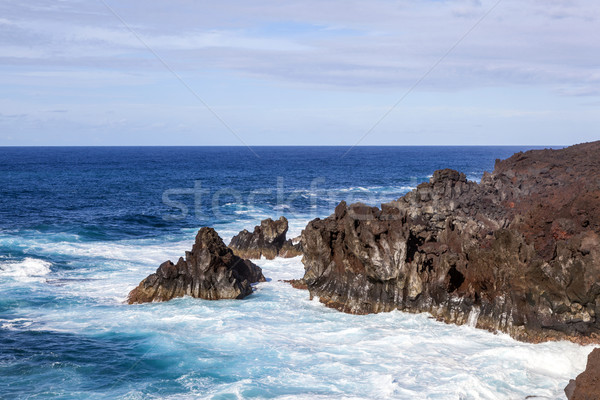
[{"label": "pointed dark rock standing in foam, leftmost of the rocks", "polygon": [[202,228],[185,260],[164,262],[129,293],[128,302],[167,301],[185,295],[242,299],[252,293],[252,283],[264,281],[260,267],[234,255],[214,229]]}]

